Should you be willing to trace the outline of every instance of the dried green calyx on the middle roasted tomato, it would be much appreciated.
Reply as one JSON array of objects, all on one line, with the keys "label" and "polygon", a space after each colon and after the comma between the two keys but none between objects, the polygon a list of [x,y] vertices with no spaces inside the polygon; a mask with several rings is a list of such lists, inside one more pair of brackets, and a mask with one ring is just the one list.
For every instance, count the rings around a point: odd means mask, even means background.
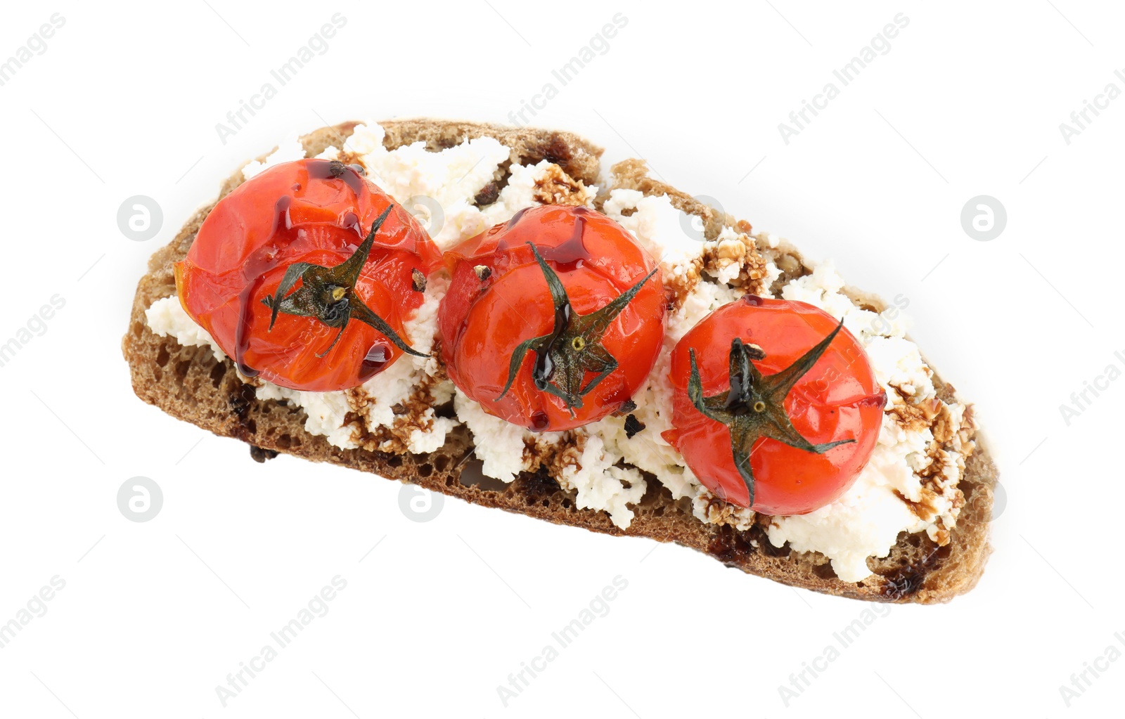
[{"label": "dried green calyx on the middle roasted tomato", "polygon": [[[579,315],[570,306],[570,299],[558,275],[547,264],[533,243],[526,244],[547,279],[547,288],[555,305],[555,327],[549,334],[524,340],[515,348],[508,363],[507,384],[495,402],[500,402],[507,394],[523,365],[524,356],[528,350],[532,350],[536,353],[536,365],[531,377],[536,388],[562,399],[570,411],[570,416],[574,416],[575,408],[582,407],[582,398],[618,368],[616,358],[602,345],[602,335],[645,282],[656,273],[657,268],[652,268],[644,279],[601,309]],[[597,372],[597,376],[583,387],[582,380],[587,371]]]}]

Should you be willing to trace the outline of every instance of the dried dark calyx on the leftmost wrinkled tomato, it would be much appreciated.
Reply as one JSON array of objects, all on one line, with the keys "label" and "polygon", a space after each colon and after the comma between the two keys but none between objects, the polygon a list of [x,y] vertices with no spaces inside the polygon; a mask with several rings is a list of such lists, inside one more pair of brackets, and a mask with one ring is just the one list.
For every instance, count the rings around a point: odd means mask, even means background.
[{"label": "dried dark calyx on the leftmost wrinkled tomato", "polygon": [[[364,305],[363,300],[356,294],[356,282],[359,280],[363,266],[367,264],[375,235],[393,208],[394,205],[389,205],[387,209],[382,210],[382,214],[371,223],[371,232],[368,233],[363,243],[340,264],[322,267],[312,262],[294,262],[286,268],[281,284],[278,285],[277,295],[267,295],[262,298],[262,304],[272,311],[268,331],[273,330],[273,323],[277,322],[279,313],[316,317],[330,327],[339,327],[340,332],[328,349],[316,356],[323,358],[340,341],[348,323],[351,320],[359,320],[382,333],[402,351],[415,357],[429,357],[429,354],[410,347],[382,317]],[[302,286],[289,293],[298,279],[302,280]]]}]

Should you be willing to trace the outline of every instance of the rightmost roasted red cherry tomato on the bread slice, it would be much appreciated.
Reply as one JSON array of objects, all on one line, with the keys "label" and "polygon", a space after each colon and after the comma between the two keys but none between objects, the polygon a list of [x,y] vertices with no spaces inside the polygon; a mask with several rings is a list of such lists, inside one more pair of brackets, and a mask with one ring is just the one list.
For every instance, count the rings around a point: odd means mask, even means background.
[{"label": "rightmost roasted red cherry tomato on the bread slice", "polygon": [[680,340],[670,380],[663,437],[716,496],[764,514],[804,514],[852,486],[886,402],[840,322],[750,295]]}]

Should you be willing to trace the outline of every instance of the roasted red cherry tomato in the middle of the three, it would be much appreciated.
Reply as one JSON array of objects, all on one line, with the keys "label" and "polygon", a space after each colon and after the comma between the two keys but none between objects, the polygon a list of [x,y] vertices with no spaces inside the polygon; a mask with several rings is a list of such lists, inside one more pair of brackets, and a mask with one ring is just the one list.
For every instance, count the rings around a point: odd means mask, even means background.
[{"label": "roasted red cherry tomato in the middle of the three", "polygon": [[619,410],[664,340],[664,286],[618,223],[585,207],[521,210],[446,252],[438,313],[450,379],[537,432]]}]

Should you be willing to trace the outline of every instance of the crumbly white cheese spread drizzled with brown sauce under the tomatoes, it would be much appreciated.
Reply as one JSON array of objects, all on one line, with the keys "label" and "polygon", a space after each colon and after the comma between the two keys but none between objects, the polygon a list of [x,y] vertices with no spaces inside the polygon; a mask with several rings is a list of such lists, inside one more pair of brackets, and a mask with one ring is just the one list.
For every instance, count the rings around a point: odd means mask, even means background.
[{"label": "crumbly white cheese spread drizzled with brown sauce under the tomatoes", "polygon": [[[513,162],[504,188],[482,207],[476,199],[500,179],[501,165],[511,158],[508,147],[478,137],[440,152],[429,151],[421,142],[387,150],[382,140],[379,125],[359,125],[344,152],[362,163],[376,185],[420,215],[442,250],[538,204],[592,207],[597,192],[596,187],[570,180],[547,160],[533,165]],[[264,161],[249,163],[243,176],[250,179],[273,164],[304,156],[299,140],[290,136]],[[318,156],[338,159],[341,152],[330,147]],[[621,416],[569,432],[529,432],[487,414],[456,389],[436,357],[404,354],[363,385],[343,392],[308,393],[259,379],[246,381],[255,385],[260,399],[302,407],[307,416],[305,430],[342,449],[432,452],[446,443],[453,428],[464,424],[474,437],[474,451],[486,476],[511,483],[521,471],[546,462],[560,486],[575,492],[576,506],[604,511],[618,527],[628,528],[633,520],[630,505],[640,501],[648,486],[644,471],[674,500],[686,500],[700,521],[746,530],[758,521],[755,513],[717,500],[662,438],[662,432],[672,429],[672,387],[666,376],[672,350],[688,330],[747,291],[774,296],[772,289],[786,259],[789,264],[798,263],[784,255],[783,243],[771,234],[752,237],[728,226],[713,240],[702,239],[702,233],[693,231],[694,218],[666,195],[614,189],[603,212],[659,262],[665,285],[675,296],[663,351],[632,397],[637,405],[632,414],[645,425],[632,438]],[[900,532],[925,531],[938,543],[948,541],[963,503],[956,485],[964,471],[965,451],[971,450],[966,434],[971,420],[963,405],[936,398],[929,368],[904,336],[901,313],[878,314],[862,307],[848,296],[831,263],[806,264],[812,271],[784,282],[777,295],[843,317],[864,345],[888,404],[874,453],[855,484],[809,514],[768,518],[766,533],[774,546],[788,542],[795,551],[821,552],[843,581],[858,582],[871,574],[867,558],[885,557]],[[411,344],[423,352],[433,347],[438,307],[448,286],[444,277],[432,278],[422,306],[405,323]],[[217,359],[224,359],[176,296],[154,302],[145,316],[156,334],[188,347],[209,347]],[[456,419],[436,416],[433,407],[450,401]]]}]

